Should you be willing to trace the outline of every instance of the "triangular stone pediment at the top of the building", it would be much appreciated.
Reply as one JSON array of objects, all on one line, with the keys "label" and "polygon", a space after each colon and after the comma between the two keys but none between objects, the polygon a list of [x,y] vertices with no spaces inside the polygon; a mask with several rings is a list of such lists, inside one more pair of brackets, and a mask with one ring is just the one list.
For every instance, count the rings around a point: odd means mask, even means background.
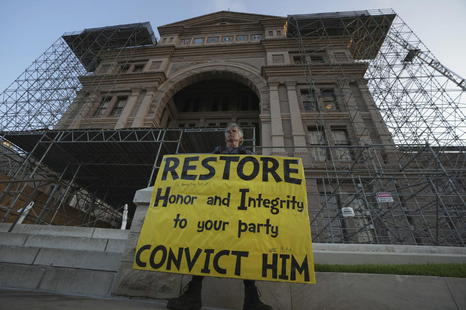
[{"label": "triangular stone pediment at the top of the building", "polygon": [[281,16],[259,15],[250,13],[238,13],[230,11],[220,11],[212,14],[207,14],[199,17],[185,19],[176,23],[161,26],[159,28],[179,27],[194,28],[194,27],[209,27],[209,26],[223,26],[232,24],[247,24],[259,23],[263,19],[283,19]]}]

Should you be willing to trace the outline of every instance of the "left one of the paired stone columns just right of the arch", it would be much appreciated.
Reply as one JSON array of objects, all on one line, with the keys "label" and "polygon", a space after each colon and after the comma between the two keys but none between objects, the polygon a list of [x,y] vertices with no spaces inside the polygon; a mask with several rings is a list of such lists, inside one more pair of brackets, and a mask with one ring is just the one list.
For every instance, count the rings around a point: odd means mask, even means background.
[{"label": "left one of the paired stone columns just right of the arch", "polygon": [[278,85],[280,82],[268,82],[270,93],[270,125],[272,136],[271,155],[287,156],[284,149],[282,112],[280,110],[280,97],[278,95]]}]

